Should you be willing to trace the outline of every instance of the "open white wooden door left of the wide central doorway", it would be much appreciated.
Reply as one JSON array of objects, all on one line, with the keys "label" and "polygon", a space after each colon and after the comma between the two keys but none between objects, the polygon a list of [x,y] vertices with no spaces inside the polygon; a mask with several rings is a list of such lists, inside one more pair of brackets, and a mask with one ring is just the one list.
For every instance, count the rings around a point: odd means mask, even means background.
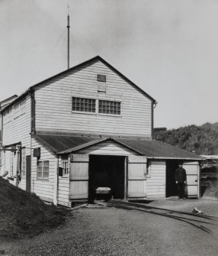
[{"label": "open white wooden door left of the wide central doorway", "polygon": [[88,199],[88,155],[73,154],[69,174],[69,199]]}]

